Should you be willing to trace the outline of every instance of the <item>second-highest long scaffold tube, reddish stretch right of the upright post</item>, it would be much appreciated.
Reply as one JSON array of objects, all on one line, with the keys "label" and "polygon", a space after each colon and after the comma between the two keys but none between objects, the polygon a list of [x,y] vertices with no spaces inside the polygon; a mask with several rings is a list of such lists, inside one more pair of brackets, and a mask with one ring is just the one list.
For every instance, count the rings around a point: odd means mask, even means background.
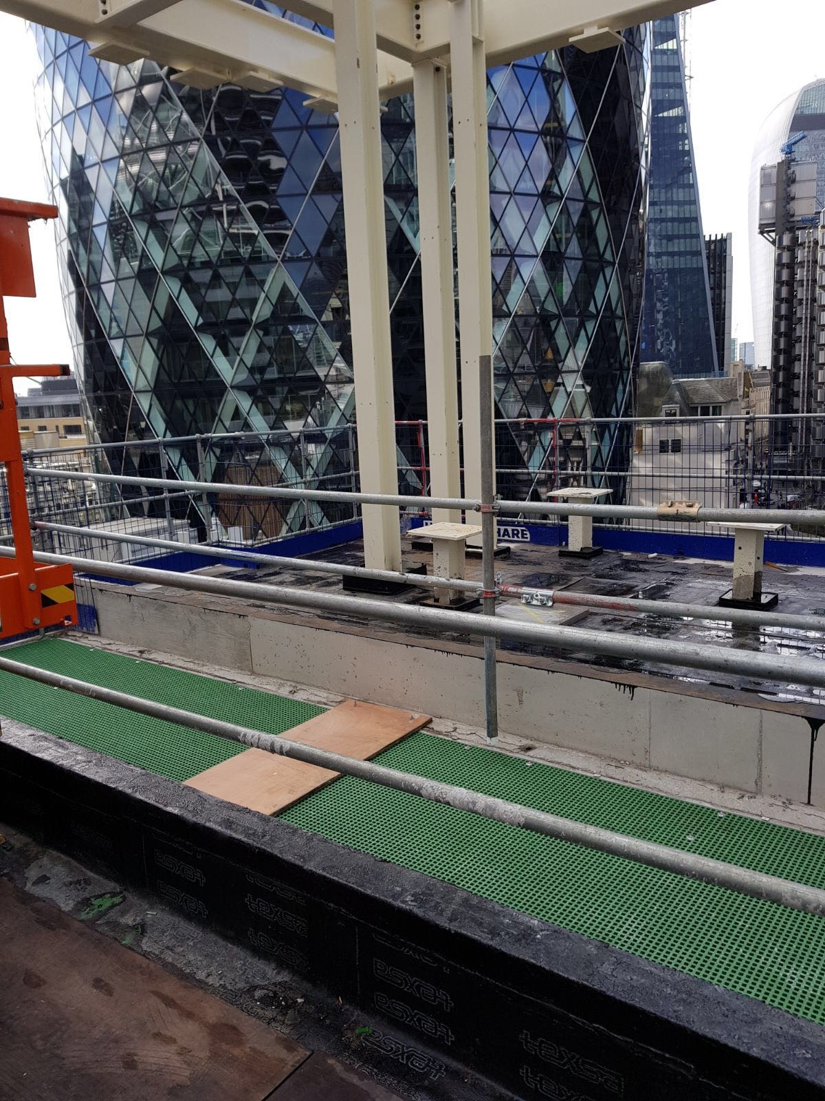
[{"label": "second-highest long scaffold tube, reddish stretch right of the upright post", "polygon": [[[34,527],[43,532],[57,532],[65,535],[79,535],[84,538],[106,542],[133,543],[136,546],[158,548],[163,550],[189,550],[207,558],[220,558],[233,562],[249,562],[250,565],[279,566],[283,569],[304,570],[309,574],[334,574],[339,577],[362,577],[373,581],[404,581],[426,589],[457,589],[461,592],[481,592],[479,581],[466,581],[461,578],[433,577],[431,574],[395,573],[392,569],[366,569],[363,566],[348,566],[338,562],[321,562],[318,558],[288,558],[278,554],[260,554],[254,550],[242,550],[233,547],[216,547],[205,543],[178,543],[175,539],[164,539],[160,536],[132,535],[130,532],[113,532],[102,527],[78,527],[74,524],[52,524],[36,521]],[[564,589],[537,589],[526,585],[499,585],[496,589],[502,596],[536,596],[550,600],[554,604],[565,604],[573,608],[593,608],[598,611],[626,612],[629,614],[645,613],[648,615],[664,615],[668,619],[703,619],[721,620],[738,626],[791,628],[800,631],[820,631],[825,633],[825,617],[793,614],[790,612],[748,611],[741,608],[718,608],[712,604],[684,604],[671,600],[644,600],[636,597],[602,597],[591,592],[568,592]]]}]

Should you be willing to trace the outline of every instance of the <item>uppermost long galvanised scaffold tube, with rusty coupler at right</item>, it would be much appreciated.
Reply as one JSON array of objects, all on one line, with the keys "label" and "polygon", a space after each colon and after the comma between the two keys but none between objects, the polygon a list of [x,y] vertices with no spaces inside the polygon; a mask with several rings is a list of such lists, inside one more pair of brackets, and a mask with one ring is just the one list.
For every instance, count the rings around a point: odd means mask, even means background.
[{"label": "uppermost long galvanised scaffold tube, with rusty coupler at right", "polygon": [[[403,509],[461,509],[479,512],[481,501],[461,497],[413,497],[394,493],[351,493],[345,490],[288,489],[283,486],[235,486],[232,482],[201,482],[180,478],[133,478],[127,475],[98,475],[85,470],[53,470],[51,467],[26,466],[34,478],[57,478],[69,481],[92,481],[116,486],[144,486],[153,489],[180,489],[193,493],[227,493],[231,497],[268,497],[287,501],[333,501],[351,504],[386,504]],[[659,515],[652,505],[575,504],[572,501],[497,501],[501,516],[526,513],[535,516],[593,516],[600,520],[658,520],[660,523],[713,524],[807,524],[825,525],[823,509],[705,509],[695,514],[679,512]],[[744,519],[745,517],[745,519]]]}]

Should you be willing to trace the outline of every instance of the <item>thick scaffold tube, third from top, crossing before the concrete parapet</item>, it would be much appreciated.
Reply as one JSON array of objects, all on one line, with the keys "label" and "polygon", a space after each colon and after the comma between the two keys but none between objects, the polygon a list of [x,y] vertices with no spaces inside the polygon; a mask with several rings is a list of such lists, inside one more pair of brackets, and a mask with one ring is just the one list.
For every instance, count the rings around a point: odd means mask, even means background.
[{"label": "thick scaffold tube, third from top, crossing before the concrete parapet", "polygon": [[[11,558],[14,550],[0,547],[0,557]],[[362,597],[338,596],[314,589],[293,589],[260,581],[235,581],[223,577],[204,577],[200,574],[178,574],[144,566],[99,562],[75,555],[55,555],[36,552],[36,562],[74,566],[75,569],[101,577],[146,582],[208,592],[218,597],[235,597],[271,604],[286,604],[333,615],[362,615],[383,623],[402,623],[425,628],[436,633],[459,633],[506,639],[530,646],[549,646],[560,650],[582,651],[587,654],[606,654],[629,661],[646,661],[657,665],[676,665],[714,673],[735,673],[747,677],[763,677],[785,685],[812,685],[825,688],[825,662],[807,657],[789,657],[784,654],[760,654],[749,650],[725,646],[697,645],[669,639],[642,639],[637,635],[609,631],[588,631],[574,626],[554,626],[543,623],[521,623],[498,615],[457,612],[447,609],[421,608],[417,604],[396,604],[386,600],[367,600]]]}]

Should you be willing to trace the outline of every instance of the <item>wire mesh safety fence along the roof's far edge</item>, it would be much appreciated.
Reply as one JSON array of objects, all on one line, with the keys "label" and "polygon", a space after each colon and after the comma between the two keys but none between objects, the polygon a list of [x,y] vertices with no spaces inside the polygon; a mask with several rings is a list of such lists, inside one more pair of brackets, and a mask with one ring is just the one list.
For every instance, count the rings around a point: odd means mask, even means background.
[{"label": "wire mesh safety fence along the roof's far edge", "polygon": [[[825,439],[825,417],[818,414],[501,419],[493,437],[496,489],[503,500],[517,504],[547,501],[560,488],[586,486],[609,489],[612,503],[628,506],[682,499],[716,509],[768,508],[788,522],[777,538],[820,541],[825,530],[790,517],[802,509],[825,506],[821,454],[825,443],[818,443],[820,436]],[[140,479],[108,486],[79,477],[31,483],[33,519],[163,534],[182,544],[254,547],[359,516],[358,502],[343,498],[304,494],[286,503],[274,498],[252,500],[244,492],[248,487],[356,491],[354,425],[42,449],[30,451],[28,462],[78,476]],[[405,516],[415,517],[426,511],[424,498],[430,492],[426,422],[398,422],[397,462],[399,493],[410,498]],[[150,486],[148,478],[163,481]],[[219,488],[195,489],[205,483]],[[6,514],[0,476],[0,539],[8,534]],[[528,514],[524,509],[507,519],[528,515],[536,524],[561,523],[561,514]],[[656,525],[650,515],[595,515],[597,523],[610,525],[646,530]],[[712,532],[695,523],[669,526],[669,531],[689,530]],[[72,548],[56,539],[54,548],[59,546]],[[143,552],[134,554],[139,559]]]}]

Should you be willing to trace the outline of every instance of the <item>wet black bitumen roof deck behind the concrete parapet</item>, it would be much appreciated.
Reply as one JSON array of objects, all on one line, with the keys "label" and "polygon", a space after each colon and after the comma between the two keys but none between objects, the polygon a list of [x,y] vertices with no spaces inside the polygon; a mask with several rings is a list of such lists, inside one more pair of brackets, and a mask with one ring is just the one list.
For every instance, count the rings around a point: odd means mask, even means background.
[{"label": "wet black bitumen roof deck behind the concrete parapet", "polygon": [[[363,565],[363,544],[345,543],[329,547],[307,558]],[[431,571],[432,556],[427,549],[413,549],[409,542],[404,553],[404,568],[417,563],[426,563]],[[466,577],[477,580],[481,587],[481,560],[468,558]],[[318,591],[340,592],[341,580],[331,575],[320,575],[283,568],[276,565],[249,569],[209,569],[221,576],[254,579],[273,585],[295,588],[312,588]],[[566,592],[588,592],[617,598],[642,598],[646,600],[674,601],[715,606],[718,598],[730,588],[730,563],[711,562],[696,558],[680,558],[668,555],[646,555],[630,552],[605,549],[590,562],[560,557],[559,548],[536,543],[510,546],[508,557],[496,559],[496,575],[503,585],[520,585],[542,589],[563,589]],[[774,611],[795,614],[825,615],[825,569],[809,566],[773,565],[766,562],[763,589],[779,593]],[[358,593],[355,593],[358,596]],[[367,599],[375,599],[369,593]],[[402,603],[420,603],[431,598],[424,589],[408,589],[398,596],[382,596],[378,599]],[[273,606],[268,604],[267,608]],[[275,606],[277,607],[277,606]],[[552,608],[526,607],[518,596],[504,596],[498,601],[498,613],[535,623],[574,624],[594,631],[607,631],[646,639],[668,639],[672,641],[707,643],[714,646],[751,650],[765,654],[798,655],[807,658],[825,658],[825,635],[814,631],[791,628],[734,626],[724,621],[703,619],[671,619],[663,615],[601,611],[586,608],[557,604]],[[286,611],[286,606],[284,606]],[[317,609],[301,611],[289,608],[292,617],[316,620],[331,620],[339,623],[356,622],[341,615],[332,615]],[[385,625],[374,624],[376,629]],[[468,635],[439,633],[428,628],[405,625],[405,635],[441,639],[455,643],[477,642]],[[499,650],[536,657],[586,663],[604,669],[625,669],[635,673],[653,673],[668,678],[711,684],[744,689],[774,700],[800,700],[803,702],[825,702],[825,691],[805,685],[777,684],[758,676],[748,677],[736,673],[680,668],[647,661],[615,658],[593,655],[586,651],[558,650],[550,646],[531,646],[518,642],[499,642]]]}]

